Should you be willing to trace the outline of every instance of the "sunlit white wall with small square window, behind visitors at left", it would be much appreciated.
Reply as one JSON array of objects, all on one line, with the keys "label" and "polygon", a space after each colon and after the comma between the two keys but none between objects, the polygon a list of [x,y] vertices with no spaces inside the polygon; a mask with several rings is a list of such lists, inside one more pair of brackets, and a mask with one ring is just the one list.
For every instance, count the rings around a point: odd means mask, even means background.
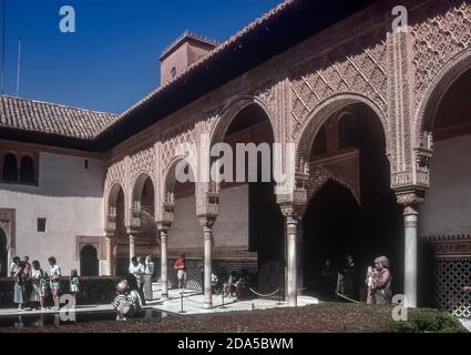
[{"label": "sunlit white wall with small square window, behind visitors at left", "polygon": [[[102,161],[40,153],[39,186],[0,184],[0,207],[16,210],[17,255],[29,255],[49,270],[48,257],[55,256],[62,273],[79,268],[75,236],[103,235]],[[37,230],[45,217],[47,233]]]}]

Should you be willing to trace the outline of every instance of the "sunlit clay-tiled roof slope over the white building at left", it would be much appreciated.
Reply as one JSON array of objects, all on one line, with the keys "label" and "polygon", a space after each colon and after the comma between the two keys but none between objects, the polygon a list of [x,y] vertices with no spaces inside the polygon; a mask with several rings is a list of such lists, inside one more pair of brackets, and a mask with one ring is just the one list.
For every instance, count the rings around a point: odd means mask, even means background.
[{"label": "sunlit clay-tiled roof slope over the white building at left", "polygon": [[93,140],[117,120],[115,114],[0,95],[0,129]]}]

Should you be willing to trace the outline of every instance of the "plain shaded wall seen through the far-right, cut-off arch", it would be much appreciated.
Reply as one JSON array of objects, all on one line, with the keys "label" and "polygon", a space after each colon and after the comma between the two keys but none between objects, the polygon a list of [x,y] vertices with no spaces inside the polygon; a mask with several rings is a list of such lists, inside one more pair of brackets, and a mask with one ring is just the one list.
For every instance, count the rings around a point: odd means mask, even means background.
[{"label": "plain shaded wall seen through the far-right, cut-off arch", "polygon": [[471,234],[471,135],[437,142],[419,234]]}]

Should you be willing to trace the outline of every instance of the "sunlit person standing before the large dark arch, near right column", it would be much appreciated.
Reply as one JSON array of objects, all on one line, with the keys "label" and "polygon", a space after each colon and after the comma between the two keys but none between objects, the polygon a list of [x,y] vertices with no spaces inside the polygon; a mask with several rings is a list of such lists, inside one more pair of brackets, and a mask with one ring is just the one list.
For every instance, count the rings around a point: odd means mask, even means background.
[{"label": "sunlit person standing before the large dark arch, near right column", "polygon": [[386,256],[375,258],[375,268],[371,274],[371,294],[373,304],[391,303],[391,273],[389,260]]}]

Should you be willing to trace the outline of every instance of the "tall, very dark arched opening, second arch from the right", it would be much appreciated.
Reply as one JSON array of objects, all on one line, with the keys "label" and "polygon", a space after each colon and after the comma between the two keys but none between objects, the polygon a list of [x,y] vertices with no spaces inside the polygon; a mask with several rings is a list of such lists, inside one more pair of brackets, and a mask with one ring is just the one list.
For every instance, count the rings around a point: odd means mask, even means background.
[{"label": "tall, very dark arched opening, second arch from the right", "polygon": [[[308,155],[310,201],[301,223],[303,286],[306,293],[332,300],[338,273],[349,273],[351,286],[345,293],[365,301],[367,268],[375,257],[386,255],[393,292],[400,293],[403,223],[390,189],[381,121],[369,105],[351,103],[330,113],[324,125],[327,138],[316,136]],[[317,140],[327,140],[324,154],[315,151]],[[348,270],[348,254],[354,257],[352,270]],[[327,260],[331,273],[322,276]]]}]

